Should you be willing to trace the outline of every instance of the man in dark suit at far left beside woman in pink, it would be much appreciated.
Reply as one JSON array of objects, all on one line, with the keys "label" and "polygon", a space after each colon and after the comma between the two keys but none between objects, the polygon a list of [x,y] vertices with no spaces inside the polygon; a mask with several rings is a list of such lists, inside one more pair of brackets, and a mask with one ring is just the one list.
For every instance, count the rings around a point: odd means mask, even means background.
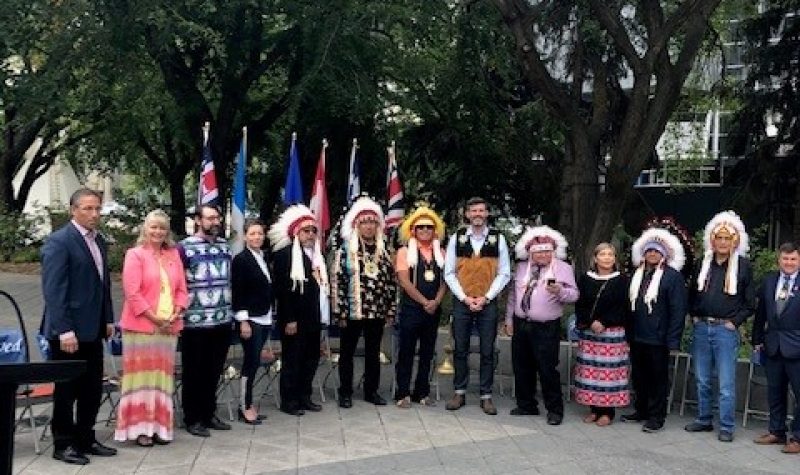
[{"label": "man in dark suit at far left beside woman in pink", "polygon": [[42,331],[50,359],[86,362],[83,375],[56,383],[52,420],[53,458],[85,465],[86,455],[117,453],[98,442],[93,429],[103,390],[103,339],[114,331],[114,312],[106,242],[97,233],[101,197],[83,188],[69,205],[72,220],[42,248]]}]

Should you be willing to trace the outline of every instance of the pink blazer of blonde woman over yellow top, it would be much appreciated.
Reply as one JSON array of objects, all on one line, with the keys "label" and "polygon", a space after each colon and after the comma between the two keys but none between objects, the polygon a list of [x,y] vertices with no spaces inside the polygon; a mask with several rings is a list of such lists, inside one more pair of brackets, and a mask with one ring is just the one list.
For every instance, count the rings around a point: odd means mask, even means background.
[{"label": "pink blazer of blonde woman over yellow top", "polygon": [[[172,286],[174,305],[186,308],[188,303],[186,274],[178,250],[164,249],[161,251],[161,256]],[[119,320],[120,327],[127,331],[153,333],[155,325],[144,316],[144,313],[148,309],[155,311],[160,291],[161,274],[158,259],[153,251],[142,246],[128,249],[122,266],[122,292],[125,299]],[[176,318],[172,323],[172,330],[177,332],[182,328],[183,319]]]}]

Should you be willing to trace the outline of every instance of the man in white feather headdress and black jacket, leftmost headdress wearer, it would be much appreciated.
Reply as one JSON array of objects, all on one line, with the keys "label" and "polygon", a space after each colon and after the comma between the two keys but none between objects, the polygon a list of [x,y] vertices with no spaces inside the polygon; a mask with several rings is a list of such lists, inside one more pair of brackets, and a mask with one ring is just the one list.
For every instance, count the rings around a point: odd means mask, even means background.
[{"label": "man in white feather headdress and black jacket, leftmost headdress wearer", "polygon": [[311,210],[293,205],[269,231],[281,331],[281,411],[300,416],[318,412],[311,383],[319,363],[322,321],[328,315],[328,271]]}]

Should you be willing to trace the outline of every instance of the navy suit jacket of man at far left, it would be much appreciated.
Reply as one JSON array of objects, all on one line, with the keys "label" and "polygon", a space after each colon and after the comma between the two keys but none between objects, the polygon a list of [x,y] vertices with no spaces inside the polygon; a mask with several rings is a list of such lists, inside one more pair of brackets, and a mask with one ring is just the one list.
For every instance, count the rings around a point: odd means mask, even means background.
[{"label": "navy suit jacket of man at far left", "polygon": [[111,276],[106,242],[95,238],[103,256],[103,278],[89,246],[71,222],[50,235],[42,247],[42,334],[56,339],[74,331],[78,341],[105,338],[105,325],[114,323]]}]

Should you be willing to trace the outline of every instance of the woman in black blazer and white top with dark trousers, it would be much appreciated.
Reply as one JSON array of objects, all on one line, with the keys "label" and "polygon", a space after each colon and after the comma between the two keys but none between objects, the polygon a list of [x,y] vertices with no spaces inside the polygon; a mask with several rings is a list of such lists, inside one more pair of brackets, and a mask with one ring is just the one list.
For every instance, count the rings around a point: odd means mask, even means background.
[{"label": "woman in black blazer and white top with dark trousers", "polygon": [[261,363],[261,349],[272,326],[274,299],[272,277],[261,247],[264,223],[247,220],[244,224],[245,249],[231,263],[232,304],[236,327],[244,349],[242,363],[242,401],[239,420],[261,424],[263,416],[253,407],[253,378]]}]

